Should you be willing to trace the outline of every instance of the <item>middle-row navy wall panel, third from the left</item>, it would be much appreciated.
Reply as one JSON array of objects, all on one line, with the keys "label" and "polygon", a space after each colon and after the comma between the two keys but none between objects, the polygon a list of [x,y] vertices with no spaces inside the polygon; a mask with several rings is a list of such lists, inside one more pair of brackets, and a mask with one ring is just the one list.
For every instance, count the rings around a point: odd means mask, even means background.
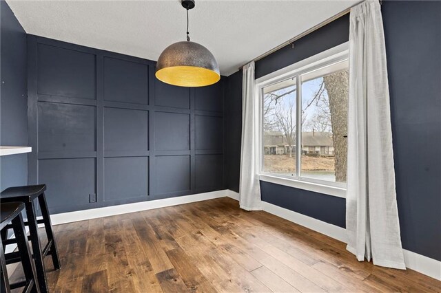
[{"label": "middle-row navy wall panel, third from the left", "polygon": [[189,150],[189,114],[155,112],[155,134],[154,144],[157,151]]}]

